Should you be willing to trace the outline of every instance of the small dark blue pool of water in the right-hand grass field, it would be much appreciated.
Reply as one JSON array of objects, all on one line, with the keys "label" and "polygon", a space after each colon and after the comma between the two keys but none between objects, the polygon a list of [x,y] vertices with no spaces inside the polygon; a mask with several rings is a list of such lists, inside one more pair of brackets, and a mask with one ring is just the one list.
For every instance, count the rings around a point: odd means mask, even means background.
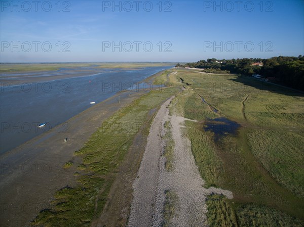
[{"label": "small dark blue pool of water in the right-hand grass field", "polygon": [[205,121],[204,130],[212,131],[214,133],[214,141],[224,137],[227,134],[236,135],[240,124],[235,121],[231,121],[225,117],[219,117],[215,119],[208,119]]}]

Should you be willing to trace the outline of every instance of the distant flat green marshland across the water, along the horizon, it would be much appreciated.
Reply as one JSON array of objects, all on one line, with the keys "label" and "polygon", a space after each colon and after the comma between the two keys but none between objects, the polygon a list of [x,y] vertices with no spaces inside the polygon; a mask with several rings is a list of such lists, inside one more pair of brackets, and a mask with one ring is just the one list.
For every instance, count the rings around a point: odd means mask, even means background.
[{"label": "distant flat green marshland across the water, along the horizon", "polygon": [[174,63],[162,62],[107,62],[107,63],[39,63],[39,64],[0,64],[1,73],[26,72],[26,71],[50,71],[60,68],[77,69],[80,67],[92,68],[138,68],[151,66],[168,66]]}]

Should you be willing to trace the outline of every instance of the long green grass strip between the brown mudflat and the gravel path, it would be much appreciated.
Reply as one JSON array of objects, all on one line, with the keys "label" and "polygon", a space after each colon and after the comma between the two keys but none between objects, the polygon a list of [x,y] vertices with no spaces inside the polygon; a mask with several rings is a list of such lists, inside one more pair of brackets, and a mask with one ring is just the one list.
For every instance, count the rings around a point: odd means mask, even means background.
[{"label": "long green grass strip between the brown mudflat and the gravel path", "polygon": [[59,190],[51,209],[41,211],[31,226],[90,226],[106,203],[113,180],[139,127],[146,127],[147,136],[149,111],[159,108],[177,92],[174,87],[161,92],[152,90],[103,122],[85,146],[75,151],[83,162],[67,164],[78,165],[75,175],[79,186]]}]

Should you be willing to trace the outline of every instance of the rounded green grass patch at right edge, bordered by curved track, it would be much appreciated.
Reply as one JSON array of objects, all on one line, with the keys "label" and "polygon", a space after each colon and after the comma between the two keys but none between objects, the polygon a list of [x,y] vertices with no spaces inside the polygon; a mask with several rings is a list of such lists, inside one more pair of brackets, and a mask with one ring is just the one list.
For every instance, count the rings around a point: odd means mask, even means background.
[{"label": "rounded green grass patch at right edge, bordered by curved track", "polygon": [[252,153],[276,181],[304,198],[303,137],[289,131],[251,130],[247,139]]}]

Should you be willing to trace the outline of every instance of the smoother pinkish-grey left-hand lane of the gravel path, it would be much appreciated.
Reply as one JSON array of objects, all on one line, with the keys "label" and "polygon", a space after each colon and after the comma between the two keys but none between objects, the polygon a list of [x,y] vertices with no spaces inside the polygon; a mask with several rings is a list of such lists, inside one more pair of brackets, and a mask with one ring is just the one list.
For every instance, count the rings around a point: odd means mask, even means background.
[{"label": "smoother pinkish-grey left-hand lane of the gravel path", "polygon": [[150,127],[147,145],[140,163],[137,178],[133,184],[133,201],[128,226],[150,226],[156,203],[159,178],[159,160],[162,152],[161,122],[167,113],[168,99],[157,112]]}]

